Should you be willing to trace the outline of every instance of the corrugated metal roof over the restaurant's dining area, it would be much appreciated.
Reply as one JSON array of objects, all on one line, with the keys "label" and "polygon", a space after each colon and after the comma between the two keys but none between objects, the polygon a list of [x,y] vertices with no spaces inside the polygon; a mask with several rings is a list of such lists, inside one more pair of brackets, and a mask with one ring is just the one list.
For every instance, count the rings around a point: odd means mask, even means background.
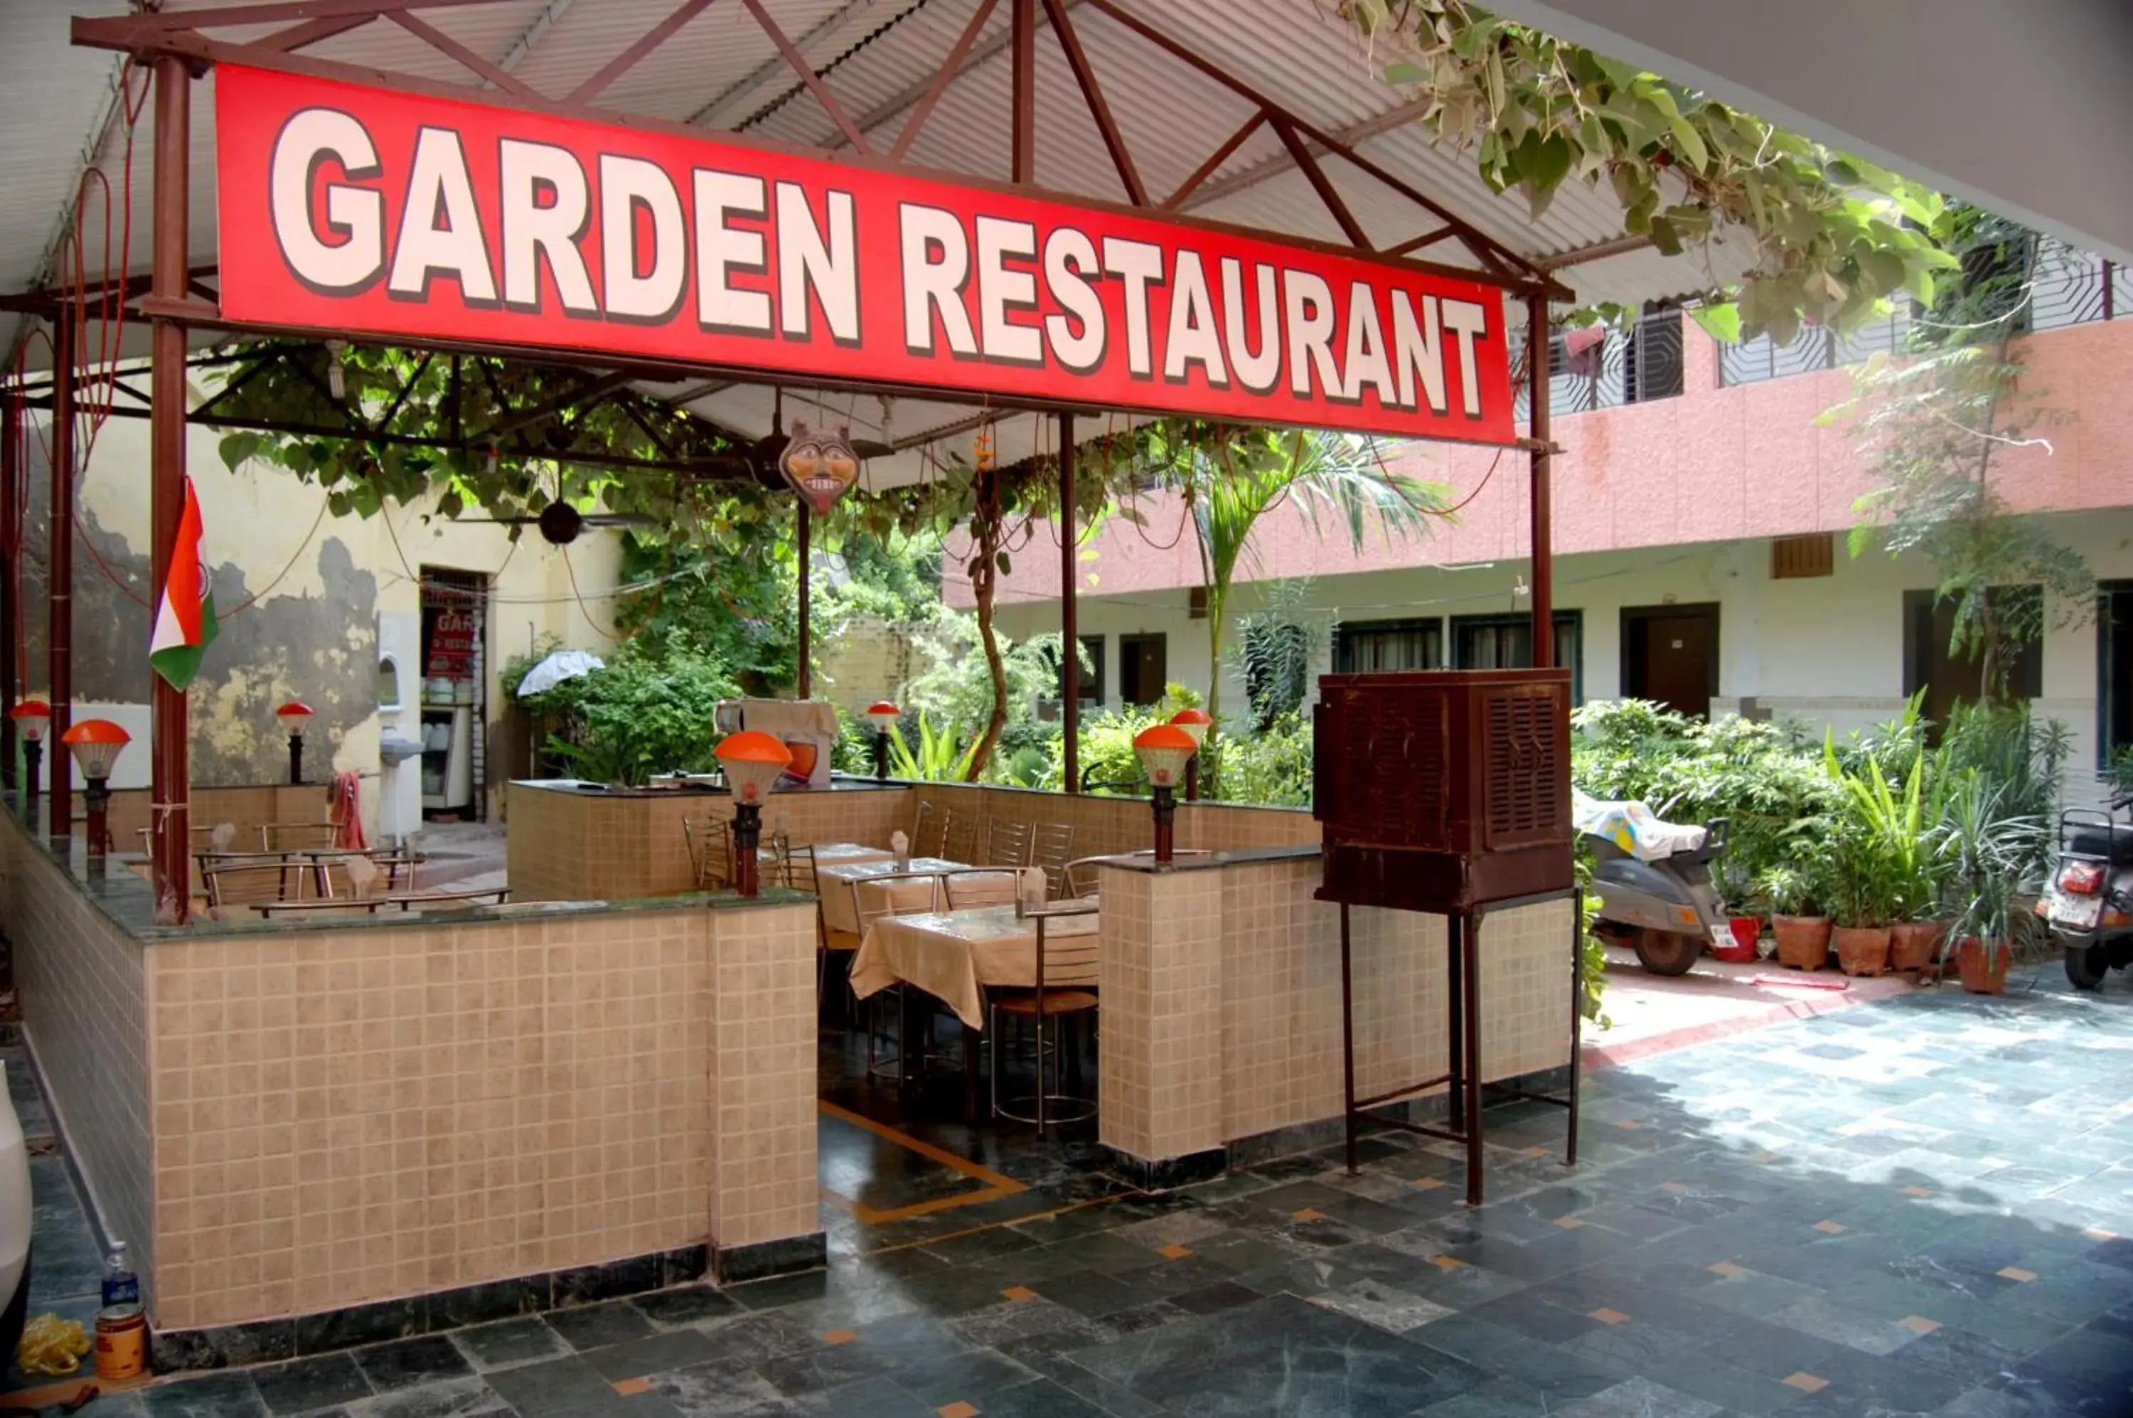
[{"label": "corrugated metal roof over the restaurant's dining area", "polygon": [[[228,0],[166,0],[171,13]],[[269,0],[256,0],[269,2]],[[495,0],[427,11],[424,21],[546,94],[567,94],[636,36],[672,13],[678,0]],[[1248,0],[1220,6],[1205,0],[1122,0],[1133,15],[1162,30],[1220,70],[1244,79],[1288,111],[1329,132],[1352,132],[1357,151],[1429,194],[1504,247],[1536,260],[1555,260],[1621,235],[1621,209],[1608,190],[1566,186],[1536,222],[1523,198],[1489,192],[1470,156],[1429,143],[1412,122],[1412,96],[1380,81],[1378,66],[1352,28],[1312,0]],[[113,60],[75,49],[68,15],[109,15],[117,0],[94,4],[30,4],[0,0],[6,45],[0,45],[0,122],[13,143],[0,154],[0,288],[19,290],[36,275],[45,239],[64,211],[75,183],[79,151],[109,92]],[[979,0],[766,0],[766,9],[806,55],[828,70],[825,85],[875,141],[889,147],[917,98],[926,92]],[[1116,19],[1081,0],[1066,0],[1073,26],[1111,104],[1126,147],[1158,200],[1173,192],[1229,134],[1252,115],[1252,102],[1216,79],[1162,53]],[[934,109],[913,145],[913,162],[985,179],[1009,175],[1009,6],[998,4],[964,72]],[[1084,107],[1060,45],[1039,23],[1037,47],[1037,181],[1062,194],[1122,200],[1118,171]],[[260,34],[262,28],[250,30]],[[241,36],[222,30],[218,36]],[[307,53],[316,58],[465,83],[465,70],[390,21],[339,34]],[[772,41],[738,2],[712,4],[668,36],[602,98],[623,113],[697,122],[706,130],[744,128],[757,136],[798,145],[843,147],[823,107],[800,85]],[[134,211],[149,205],[149,132],[139,134]],[[107,145],[107,166],[115,145]],[[1433,226],[1427,211],[1340,158],[1325,171],[1363,230],[1382,245],[1406,241]],[[117,181],[113,173],[113,181]],[[1269,235],[1340,241],[1335,217],[1320,203],[1276,134],[1261,130],[1186,203],[1194,215]],[[132,243],[130,264],[145,269],[145,220]],[[92,271],[105,262],[100,232],[90,241]],[[213,79],[194,85],[192,119],[192,260],[215,258],[213,213]],[[1457,241],[1423,252],[1442,264],[1476,264]],[[1566,284],[1589,301],[1638,303],[1700,290],[1734,275],[1741,252],[1723,245],[1664,258],[1632,252],[1566,273]],[[4,318],[0,318],[4,320]],[[1517,316],[1514,316],[1514,322]],[[0,339],[13,331],[0,324]],[[143,345],[128,341],[130,352]],[[683,394],[704,386],[674,386]],[[787,394],[791,403],[796,394]],[[864,437],[909,441],[928,429],[953,429],[945,439],[966,439],[966,424],[983,414],[975,405],[917,399],[892,401],[892,431],[883,435],[879,401],[825,394],[823,414],[843,412]],[[868,405],[875,405],[868,412]],[[742,433],[770,422],[770,392],[725,386],[700,392],[691,407]],[[998,433],[1000,456],[1015,458],[1039,441],[1030,416],[1007,420]],[[1045,435],[1047,437],[1047,435]],[[877,458],[870,478],[909,482],[926,476],[928,454],[915,448],[898,458]]]}]

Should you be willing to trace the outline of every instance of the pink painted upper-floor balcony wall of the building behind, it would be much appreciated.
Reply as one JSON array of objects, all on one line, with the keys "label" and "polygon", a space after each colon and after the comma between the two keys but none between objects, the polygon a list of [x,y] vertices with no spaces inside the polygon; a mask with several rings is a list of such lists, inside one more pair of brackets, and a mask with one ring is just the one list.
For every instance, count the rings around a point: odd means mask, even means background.
[{"label": "pink painted upper-floor balcony wall of the building behind", "polygon": [[[1732,542],[1802,531],[1841,531],[1851,503],[1871,482],[1858,458],[1858,435],[1815,418],[1851,397],[1851,371],[1832,369],[1787,380],[1721,388],[1719,348],[1694,322],[1685,328],[1685,392],[1679,399],[1572,414],[1555,420],[1555,550],[1595,552],[1689,542]],[[2020,345],[2026,384],[2043,405],[2071,409],[2067,426],[2039,429],[2052,452],[2014,450],[1996,458],[2009,501],[2024,512],[2078,512],[2133,505],[2133,320],[2080,324],[2037,335]],[[1427,539],[1386,544],[1374,537],[1361,554],[1327,522],[1327,537],[1301,512],[1276,512],[1254,535],[1256,565],[1241,580],[1333,576],[1414,565],[1457,565],[1527,557],[1527,461],[1453,444],[1412,444],[1391,458],[1414,478],[1442,482],[1459,501],[1480,486],[1455,522]],[[1092,539],[1092,561],[1079,561],[1081,595],[1120,595],[1201,584],[1190,533],[1180,537],[1175,497],[1141,499],[1145,529],[1111,518]],[[1171,544],[1175,537],[1175,546]],[[1003,578],[1005,601],[1052,599],[1060,593],[1054,533],[1013,557]],[[1165,550],[1167,548],[1167,550]],[[958,569],[960,537],[947,557],[945,595],[971,606]],[[1094,578],[1094,580],[1090,580]]]}]

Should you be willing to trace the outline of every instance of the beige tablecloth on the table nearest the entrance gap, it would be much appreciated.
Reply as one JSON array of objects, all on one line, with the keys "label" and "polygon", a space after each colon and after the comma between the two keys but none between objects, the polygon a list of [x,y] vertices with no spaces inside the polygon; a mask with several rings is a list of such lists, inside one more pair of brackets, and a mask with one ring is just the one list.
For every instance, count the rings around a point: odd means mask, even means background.
[{"label": "beige tablecloth on the table nearest the entrance gap", "polygon": [[[1060,917],[1045,925],[1047,940],[1092,934],[1094,915]],[[1049,960],[1049,951],[1045,955]],[[983,985],[1037,985],[1037,921],[1017,921],[1011,904],[881,917],[866,928],[866,938],[851,957],[851,992],[864,1000],[896,981],[917,985],[973,1030],[981,1030]]]}]

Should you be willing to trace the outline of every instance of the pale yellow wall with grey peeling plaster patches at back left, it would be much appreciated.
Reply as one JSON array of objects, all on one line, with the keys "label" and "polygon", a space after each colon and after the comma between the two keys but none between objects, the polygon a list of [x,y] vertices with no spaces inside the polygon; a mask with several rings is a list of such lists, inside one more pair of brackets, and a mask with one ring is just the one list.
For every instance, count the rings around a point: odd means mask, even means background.
[{"label": "pale yellow wall with grey peeling plaster patches at back left", "polygon": [[[192,394],[194,401],[203,397],[198,386]],[[145,420],[109,420],[75,493],[75,704],[143,706],[139,723],[147,723],[151,682],[147,435]],[[292,473],[256,461],[235,473],[224,467],[213,429],[190,429],[186,456],[222,623],[190,695],[192,783],[198,787],[286,780],[288,740],[273,710],[303,699],[318,714],[305,738],[305,776],[363,774],[365,817],[375,823],[378,616],[420,610],[416,574],[422,567],[493,578],[484,655],[491,740],[503,710],[497,672],[512,655],[546,635],[595,655],[614,650],[610,593],[621,576],[621,542],[612,533],[589,533],[570,548],[565,565],[563,550],[531,529],[514,548],[506,527],[450,522],[431,516],[429,507],[395,507],[375,518],[320,516],[326,495]],[[23,693],[43,695],[49,687],[51,478],[36,439],[28,471]],[[572,571],[587,597],[582,606]],[[254,595],[260,599],[237,610]],[[495,774],[495,742],[488,761]],[[128,751],[122,770],[137,770],[145,783],[147,746]],[[501,802],[497,783],[488,791]]]}]

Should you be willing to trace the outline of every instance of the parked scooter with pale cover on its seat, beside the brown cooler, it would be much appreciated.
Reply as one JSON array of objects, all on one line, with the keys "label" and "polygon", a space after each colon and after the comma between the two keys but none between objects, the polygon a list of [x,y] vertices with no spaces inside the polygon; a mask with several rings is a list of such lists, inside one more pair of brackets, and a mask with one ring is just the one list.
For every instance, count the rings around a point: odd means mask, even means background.
[{"label": "parked scooter with pale cover on its seat, beside the brown cooler", "polygon": [[1687,974],[1706,945],[1732,945],[1711,859],[1726,851],[1726,819],[1666,823],[1640,802],[1578,800],[1576,825],[1593,849],[1595,930],[1630,945],[1653,974]]}]

